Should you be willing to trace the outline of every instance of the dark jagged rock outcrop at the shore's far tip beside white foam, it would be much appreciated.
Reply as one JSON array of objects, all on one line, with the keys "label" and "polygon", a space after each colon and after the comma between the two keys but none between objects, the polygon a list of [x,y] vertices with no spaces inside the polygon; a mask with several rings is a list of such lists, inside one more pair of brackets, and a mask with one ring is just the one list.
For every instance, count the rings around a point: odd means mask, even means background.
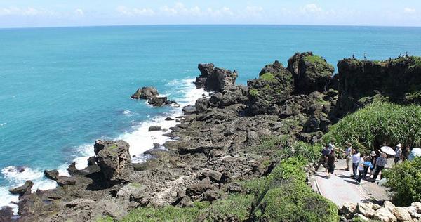
[{"label": "dark jagged rock outcrop at the shore's far tip beside white foam", "polygon": [[199,64],[201,75],[196,78],[197,88],[205,88],[207,91],[222,91],[225,86],[234,84],[238,74],[234,71],[221,69],[210,64]]}]

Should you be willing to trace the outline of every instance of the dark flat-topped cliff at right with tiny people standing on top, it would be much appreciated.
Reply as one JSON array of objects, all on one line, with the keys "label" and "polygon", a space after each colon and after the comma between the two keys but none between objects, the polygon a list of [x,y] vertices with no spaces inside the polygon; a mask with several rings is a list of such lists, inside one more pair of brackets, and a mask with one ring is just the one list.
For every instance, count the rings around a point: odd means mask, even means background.
[{"label": "dark flat-topped cliff at right with tiny people standing on top", "polygon": [[338,62],[339,117],[377,99],[421,103],[421,58],[385,61],[344,59]]}]

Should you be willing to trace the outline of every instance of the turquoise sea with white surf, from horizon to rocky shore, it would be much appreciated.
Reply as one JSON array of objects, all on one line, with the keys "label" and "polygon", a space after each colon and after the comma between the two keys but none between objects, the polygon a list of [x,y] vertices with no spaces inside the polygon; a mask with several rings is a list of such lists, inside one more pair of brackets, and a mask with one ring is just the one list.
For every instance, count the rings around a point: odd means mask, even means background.
[{"label": "turquoise sea with white surf, from horizon to rocky shore", "polygon": [[[44,169],[83,166],[97,138],[124,138],[139,155],[163,142],[147,133],[176,107],[131,100],[156,86],[182,104],[201,91],[190,84],[197,63],[239,72],[241,84],[267,63],[314,51],[329,63],[355,53],[380,60],[421,55],[420,27],[126,26],[0,30],[0,205],[7,188],[26,179],[53,188]],[[170,123],[165,123],[170,126]],[[79,157],[79,158],[78,158]],[[140,159],[138,159],[140,161]],[[25,167],[19,173],[18,167]]]}]

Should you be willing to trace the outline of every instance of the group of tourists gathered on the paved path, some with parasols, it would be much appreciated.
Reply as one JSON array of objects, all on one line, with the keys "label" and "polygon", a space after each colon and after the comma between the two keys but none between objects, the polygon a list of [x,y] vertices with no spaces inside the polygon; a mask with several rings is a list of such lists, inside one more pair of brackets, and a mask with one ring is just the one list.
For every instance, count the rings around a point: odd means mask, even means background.
[{"label": "group of tourists gathered on the paved path, some with parasols", "polygon": [[[333,141],[330,141],[330,143],[325,145],[323,150],[321,150],[321,158],[316,165],[316,171],[323,165],[326,169],[326,177],[330,178],[335,171],[336,157],[337,153],[340,151],[343,152],[346,158],[347,168],[345,170],[350,171],[352,169],[351,177],[359,184],[362,179],[365,180],[367,178],[368,172],[370,172],[368,180],[374,183],[387,164],[387,154],[380,149],[362,155],[357,148],[352,147],[351,143],[347,143],[346,150],[340,150],[335,147]],[[410,147],[406,146],[405,148],[402,148],[401,143],[399,143],[396,145],[395,152],[394,163],[397,164],[400,160],[406,161],[408,159]]]}]

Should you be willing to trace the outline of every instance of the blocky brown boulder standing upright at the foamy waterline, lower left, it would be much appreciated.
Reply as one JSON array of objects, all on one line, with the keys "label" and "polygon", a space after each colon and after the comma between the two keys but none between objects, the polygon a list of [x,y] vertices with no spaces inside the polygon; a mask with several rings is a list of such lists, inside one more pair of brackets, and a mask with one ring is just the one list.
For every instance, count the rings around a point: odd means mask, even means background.
[{"label": "blocky brown boulder standing upright at the foamy waterline, lower left", "polygon": [[129,145],[125,141],[95,141],[97,163],[109,181],[126,181],[133,173]]}]

